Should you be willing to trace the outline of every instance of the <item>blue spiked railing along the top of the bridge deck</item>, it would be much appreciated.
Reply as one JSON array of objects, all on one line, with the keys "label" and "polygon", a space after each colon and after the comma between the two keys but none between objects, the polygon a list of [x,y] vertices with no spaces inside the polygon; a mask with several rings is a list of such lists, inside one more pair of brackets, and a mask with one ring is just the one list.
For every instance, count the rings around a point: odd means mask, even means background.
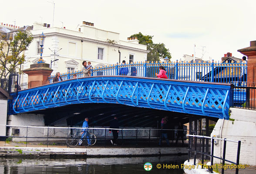
[{"label": "blue spiked railing along the top of the bridge deck", "polygon": [[[247,67],[246,61],[242,62],[217,62],[217,61],[197,61],[197,62],[137,62],[125,65],[108,65],[105,67],[99,67],[92,69],[91,76],[115,76],[121,75],[123,68],[128,68],[128,76],[135,77],[156,77],[156,73],[159,72],[159,66],[165,67],[166,75],[168,79],[176,80],[192,80],[192,81],[208,81],[218,83],[234,83],[237,85],[239,81],[243,86],[243,82],[246,82],[245,77],[239,79],[241,76],[241,70],[243,67]],[[246,74],[246,68],[243,68],[243,73]],[[72,79],[74,74],[77,77],[82,77],[81,71],[73,73],[61,74],[63,80]],[[49,77],[50,83],[52,83],[53,77]],[[239,85],[239,86],[240,86]]]}]

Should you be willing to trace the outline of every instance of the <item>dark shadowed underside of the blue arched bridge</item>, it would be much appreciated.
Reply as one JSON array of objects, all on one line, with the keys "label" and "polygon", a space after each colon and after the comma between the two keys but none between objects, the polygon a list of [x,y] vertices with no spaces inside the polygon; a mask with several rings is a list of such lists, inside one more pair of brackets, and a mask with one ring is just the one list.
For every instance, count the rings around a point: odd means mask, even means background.
[{"label": "dark shadowed underside of the blue arched bridge", "polygon": [[[37,110],[33,114],[44,114],[45,125],[58,126],[67,122],[68,126],[81,126],[84,118],[89,118],[90,126],[109,126],[113,117],[118,117],[120,126],[124,127],[159,127],[162,117],[168,116],[169,124],[177,125],[189,122],[189,117],[202,116],[156,110],[141,107],[131,107],[121,104],[73,104],[47,110]],[[217,118],[211,117],[217,121]],[[171,128],[171,127],[170,127]]]}]

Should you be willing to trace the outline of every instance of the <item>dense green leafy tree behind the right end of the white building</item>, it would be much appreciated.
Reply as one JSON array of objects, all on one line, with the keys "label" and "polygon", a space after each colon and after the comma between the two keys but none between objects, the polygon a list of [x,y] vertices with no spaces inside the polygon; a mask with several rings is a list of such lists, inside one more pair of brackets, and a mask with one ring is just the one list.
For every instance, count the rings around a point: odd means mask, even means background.
[{"label": "dense green leafy tree behind the right end of the white building", "polygon": [[131,37],[137,37],[140,44],[146,45],[149,53],[147,55],[148,61],[159,61],[160,58],[165,58],[166,56],[169,60],[172,58],[169,49],[165,48],[164,43],[153,43],[152,38],[154,36],[143,35],[141,32],[131,35]]}]

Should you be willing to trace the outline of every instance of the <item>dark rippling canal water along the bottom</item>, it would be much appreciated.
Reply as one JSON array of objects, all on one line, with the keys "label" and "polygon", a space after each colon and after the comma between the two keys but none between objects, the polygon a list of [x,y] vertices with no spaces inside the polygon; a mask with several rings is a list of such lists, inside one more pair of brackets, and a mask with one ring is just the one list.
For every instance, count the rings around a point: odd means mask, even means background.
[{"label": "dark rippling canal water along the bottom", "polygon": [[[187,157],[187,155],[85,159],[0,157],[0,174],[183,174],[181,164]],[[145,170],[144,164],[147,162],[152,164],[152,168],[149,166]],[[173,164],[175,168],[171,166]],[[147,171],[150,169],[151,171]]]}]

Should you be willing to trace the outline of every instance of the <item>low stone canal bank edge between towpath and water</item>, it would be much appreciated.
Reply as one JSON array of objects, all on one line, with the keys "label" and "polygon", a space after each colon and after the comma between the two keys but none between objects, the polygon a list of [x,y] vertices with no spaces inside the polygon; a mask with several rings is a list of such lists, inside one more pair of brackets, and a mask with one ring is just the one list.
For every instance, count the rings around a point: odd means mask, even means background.
[{"label": "low stone canal bank edge between towpath and water", "polygon": [[187,154],[187,147],[0,147],[0,157],[125,157]]}]

